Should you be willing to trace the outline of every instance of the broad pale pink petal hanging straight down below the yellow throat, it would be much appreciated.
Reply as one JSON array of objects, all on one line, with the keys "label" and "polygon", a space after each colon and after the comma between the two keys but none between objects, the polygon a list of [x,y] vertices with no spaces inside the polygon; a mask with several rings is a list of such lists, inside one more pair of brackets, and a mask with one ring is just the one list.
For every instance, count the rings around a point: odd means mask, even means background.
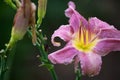
[{"label": "broad pale pink petal hanging straight down below the yellow throat", "polygon": [[79,55],[83,75],[98,75],[101,69],[101,56],[95,53],[82,53]]}]

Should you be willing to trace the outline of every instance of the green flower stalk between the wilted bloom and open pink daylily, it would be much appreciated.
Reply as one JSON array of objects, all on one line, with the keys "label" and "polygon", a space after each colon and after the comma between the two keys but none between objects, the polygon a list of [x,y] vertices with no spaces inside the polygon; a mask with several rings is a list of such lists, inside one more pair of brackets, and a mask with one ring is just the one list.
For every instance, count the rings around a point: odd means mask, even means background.
[{"label": "green flower stalk between the wilted bloom and open pink daylily", "polygon": [[[50,72],[53,80],[58,80],[56,72],[54,70],[54,66],[53,64],[48,60],[47,57],[47,51],[45,50],[45,40],[44,40],[44,36],[41,33],[41,31],[37,31],[36,30],[36,34],[37,34],[37,42],[36,42],[36,47],[39,49],[40,51],[40,57],[39,60],[42,62],[41,66],[44,66],[48,69],[48,71]],[[28,35],[30,35],[32,37],[32,32],[30,30],[28,30]]]}]

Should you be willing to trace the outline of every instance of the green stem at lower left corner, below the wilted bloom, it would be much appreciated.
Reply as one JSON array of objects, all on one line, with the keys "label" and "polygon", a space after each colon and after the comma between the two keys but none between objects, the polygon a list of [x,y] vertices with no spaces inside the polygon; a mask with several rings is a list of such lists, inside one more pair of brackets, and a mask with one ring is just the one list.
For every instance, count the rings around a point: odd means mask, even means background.
[{"label": "green stem at lower left corner, below the wilted bloom", "polygon": [[14,55],[15,55],[15,46],[11,50],[8,50],[6,47],[5,51],[1,53],[0,80],[9,80]]}]

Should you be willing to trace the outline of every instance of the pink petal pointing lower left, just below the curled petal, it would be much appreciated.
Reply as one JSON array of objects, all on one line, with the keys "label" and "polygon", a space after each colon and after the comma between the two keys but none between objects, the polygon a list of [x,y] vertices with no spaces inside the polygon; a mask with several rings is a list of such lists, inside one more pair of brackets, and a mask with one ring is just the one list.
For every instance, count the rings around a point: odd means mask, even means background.
[{"label": "pink petal pointing lower left, just below the curled petal", "polygon": [[64,47],[61,50],[53,52],[48,55],[48,59],[56,64],[69,64],[73,61],[73,58],[77,55],[77,50],[71,46]]}]

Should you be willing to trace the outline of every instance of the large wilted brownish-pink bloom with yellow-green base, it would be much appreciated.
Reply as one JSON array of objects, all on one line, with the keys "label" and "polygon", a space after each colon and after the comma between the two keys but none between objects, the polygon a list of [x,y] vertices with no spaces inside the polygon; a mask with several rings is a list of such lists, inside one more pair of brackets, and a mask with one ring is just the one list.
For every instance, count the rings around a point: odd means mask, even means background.
[{"label": "large wilted brownish-pink bloom with yellow-green base", "polygon": [[7,45],[8,49],[12,49],[16,42],[24,37],[29,26],[30,15],[31,1],[21,0],[21,5],[19,6],[14,17],[14,25],[11,31],[11,38]]}]

